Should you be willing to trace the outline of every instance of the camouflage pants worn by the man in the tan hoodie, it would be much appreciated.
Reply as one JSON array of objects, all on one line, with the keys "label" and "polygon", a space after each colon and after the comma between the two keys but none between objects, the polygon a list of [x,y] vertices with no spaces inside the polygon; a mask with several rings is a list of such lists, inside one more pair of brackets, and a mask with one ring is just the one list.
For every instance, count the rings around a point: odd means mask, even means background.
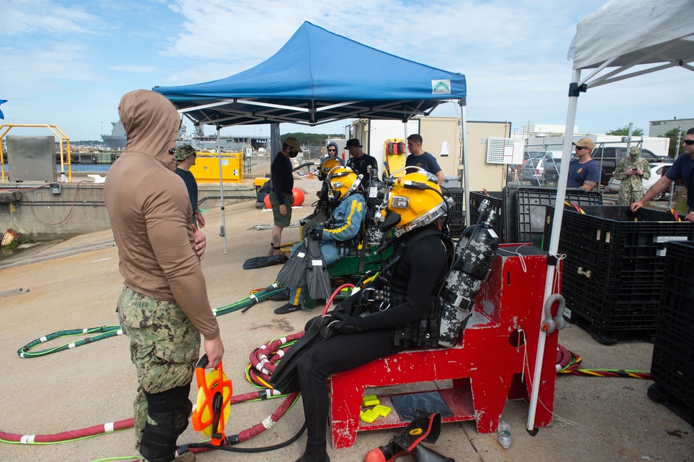
[{"label": "camouflage pants worn by the man in the tan hoodie", "polygon": [[147,421],[147,393],[161,393],[192,381],[200,333],[175,301],[155,300],[128,287],[118,300],[118,319],[130,338],[130,359],[137,369],[135,449]]}]

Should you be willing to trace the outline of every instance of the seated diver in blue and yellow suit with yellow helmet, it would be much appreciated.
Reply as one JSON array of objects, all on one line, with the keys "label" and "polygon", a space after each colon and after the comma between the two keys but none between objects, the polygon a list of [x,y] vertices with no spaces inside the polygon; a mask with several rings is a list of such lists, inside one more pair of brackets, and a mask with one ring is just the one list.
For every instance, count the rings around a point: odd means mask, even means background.
[{"label": "seated diver in blue and yellow suit with yellow helmet", "polygon": [[352,169],[337,166],[328,173],[328,202],[332,214],[327,222],[305,230],[304,243],[291,250],[291,257],[277,275],[278,282],[289,288],[289,302],[275,309],[287,314],[302,309],[305,292],[311,298],[330,298],[328,266],[348,255],[350,243],[359,238],[366,199],[359,189],[362,176]]}]

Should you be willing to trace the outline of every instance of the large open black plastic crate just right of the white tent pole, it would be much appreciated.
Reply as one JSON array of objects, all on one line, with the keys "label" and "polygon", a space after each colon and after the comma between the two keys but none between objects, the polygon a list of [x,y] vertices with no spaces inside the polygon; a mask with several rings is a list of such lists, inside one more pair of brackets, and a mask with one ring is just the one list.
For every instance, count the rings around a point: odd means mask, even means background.
[{"label": "large open black plastic crate just right of the white tent pole", "polygon": [[[633,214],[627,206],[564,209],[559,253],[566,254],[562,295],[572,314],[601,330],[654,332],[661,302],[666,246],[691,240],[694,223],[675,222],[652,209]],[[549,247],[554,207],[547,207]]]}]

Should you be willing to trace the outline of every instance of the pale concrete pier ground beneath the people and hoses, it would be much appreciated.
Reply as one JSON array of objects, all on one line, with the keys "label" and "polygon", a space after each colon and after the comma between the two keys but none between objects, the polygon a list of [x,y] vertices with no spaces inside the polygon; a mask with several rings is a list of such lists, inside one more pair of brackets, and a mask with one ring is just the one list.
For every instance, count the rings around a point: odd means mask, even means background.
[{"label": "pale concrete pier ground beneath the people and hoses", "polygon": [[[297,179],[306,192],[302,208],[292,222],[312,212],[310,203],[318,180]],[[255,209],[255,200],[226,207],[228,253],[219,237],[221,210],[205,212],[203,229],[208,239],[203,271],[212,307],[223,307],[248,296],[252,289],[273,282],[279,266],[250,271],[243,262],[265,255],[271,230],[270,212]],[[105,245],[110,230],[83,234],[60,243],[42,244],[0,262],[2,289],[28,289],[0,298],[0,431],[46,435],[82,429],[132,417],[135,368],[130,363],[128,339],[117,336],[34,359],[19,359],[23,345],[61,330],[118,323],[115,307],[122,289],[115,246]],[[282,240],[296,241],[298,228],[287,228]],[[41,256],[45,258],[40,258]],[[32,259],[30,261],[26,259]],[[24,260],[24,264],[17,264]],[[12,264],[12,265],[10,265]],[[219,317],[226,354],[224,369],[234,394],[255,391],[244,378],[248,355],[276,336],[300,332],[316,312],[298,311],[277,316],[273,309],[284,302],[266,300],[245,313]],[[78,337],[79,338],[79,337]],[[37,349],[56,347],[78,338],[61,339]],[[622,343],[601,345],[574,325],[559,332],[559,343],[579,354],[585,368],[649,370],[653,345]],[[503,361],[490,357],[489,361]],[[456,461],[694,461],[694,429],[661,404],[652,402],[643,379],[557,377],[555,419],[536,436],[525,431],[528,405],[509,401],[502,418],[511,424],[513,443],[505,450],[496,434],[477,434],[474,422],[444,424],[433,449]],[[446,388],[448,384],[438,384]],[[434,384],[432,384],[432,388]],[[193,386],[195,388],[195,386]],[[191,399],[196,398],[196,391]],[[246,402],[231,408],[227,433],[237,434],[267,418],[281,400]],[[541,405],[541,404],[540,404]],[[242,447],[281,443],[303,424],[301,399],[284,418]],[[359,433],[349,449],[328,449],[332,461],[361,461],[369,450],[384,445],[398,430]],[[189,427],[179,443],[204,438]],[[261,454],[198,454],[198,461],[295,461],[303,452],[305,434],[288,447]],[[137,456],[132,429],[59,445],[0,443],[0,459],[8,461],[94,461]],[[409,457],[400,459],[411,460]]]}]

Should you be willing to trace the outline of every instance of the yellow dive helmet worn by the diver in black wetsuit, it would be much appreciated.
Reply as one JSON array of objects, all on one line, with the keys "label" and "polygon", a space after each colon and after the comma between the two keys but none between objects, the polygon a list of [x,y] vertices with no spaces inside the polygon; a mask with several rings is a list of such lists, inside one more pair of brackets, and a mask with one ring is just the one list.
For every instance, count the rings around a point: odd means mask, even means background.
[{"label": "yellow dive helmet worn by the diver in black wetsuit", "polygon": [[[403,170],[405,174],[398,177]],[[383,232],[394,229],[401,236],[432,223],[448,211],[449,204],[441,195],[436,176],[424,169],[407,167],[393,172],[386,184],[384,203],[376,214],[380,216],[378,228]]]}]

